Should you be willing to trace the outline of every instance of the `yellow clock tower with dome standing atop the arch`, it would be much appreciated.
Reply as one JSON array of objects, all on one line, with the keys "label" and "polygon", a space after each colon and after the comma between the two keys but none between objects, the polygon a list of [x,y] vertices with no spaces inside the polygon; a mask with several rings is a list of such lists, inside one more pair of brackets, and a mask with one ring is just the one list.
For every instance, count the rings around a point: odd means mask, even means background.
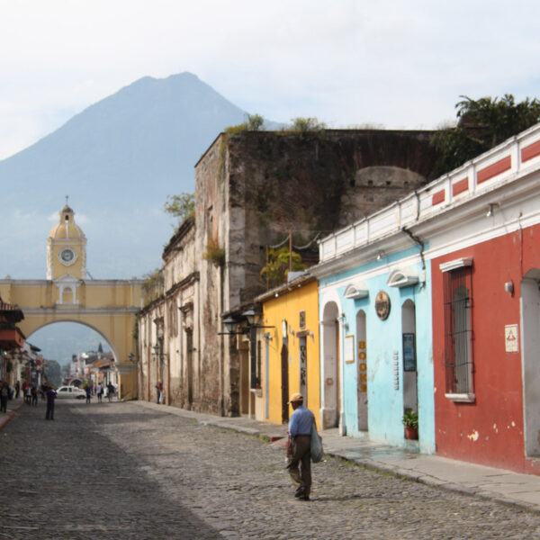
[{"label": "yellow clock tower with dome standing atop the arch", "polygon": [[58,211],[59,221],[47,238],[47,279],[86,277],[86,237],[67,204]]}]

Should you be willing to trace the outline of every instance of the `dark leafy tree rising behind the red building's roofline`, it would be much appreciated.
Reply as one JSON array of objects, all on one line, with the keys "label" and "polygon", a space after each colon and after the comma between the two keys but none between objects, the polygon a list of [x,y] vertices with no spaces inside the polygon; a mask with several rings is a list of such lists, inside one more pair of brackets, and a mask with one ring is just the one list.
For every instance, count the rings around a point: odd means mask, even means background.
[{"label": "dark leafy tree rising behind the red building's roofline", "polygon": [[436,175],[463,165],[540,121],[540,101],[536,98],[516,103],[512,94],[478,100],[460,97],[462,101],[455,104],[457,125],[438,131],[431,141],[440,156]]}]

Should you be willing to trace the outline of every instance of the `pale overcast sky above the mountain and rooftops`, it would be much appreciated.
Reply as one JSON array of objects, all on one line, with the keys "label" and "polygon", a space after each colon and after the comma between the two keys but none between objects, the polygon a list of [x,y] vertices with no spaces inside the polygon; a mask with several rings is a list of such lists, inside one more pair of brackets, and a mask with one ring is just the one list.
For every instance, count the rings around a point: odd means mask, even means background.
[{"label": "pale overcast sky above the mountain and rooftops", "polygon": [[0,0],[0,158],[141,76],[190,71],[274,121],[434,128],[540,95],[540,3]]}]

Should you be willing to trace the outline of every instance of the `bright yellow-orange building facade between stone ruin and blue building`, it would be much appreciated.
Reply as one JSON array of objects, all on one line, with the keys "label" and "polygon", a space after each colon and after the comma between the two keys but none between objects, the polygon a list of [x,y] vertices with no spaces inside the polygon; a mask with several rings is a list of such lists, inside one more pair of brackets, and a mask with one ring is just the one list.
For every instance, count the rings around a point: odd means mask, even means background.
[{"label": "bright yellow-orange building facade between stone ruin and blue building", "polygon": [[315,278],[302,275],[257,297],[264,325],[274,328],[261,339],[261,391],[257,412],[275,424],[289,420],[288,401],[301,392],[320,426],[319,293]]}]

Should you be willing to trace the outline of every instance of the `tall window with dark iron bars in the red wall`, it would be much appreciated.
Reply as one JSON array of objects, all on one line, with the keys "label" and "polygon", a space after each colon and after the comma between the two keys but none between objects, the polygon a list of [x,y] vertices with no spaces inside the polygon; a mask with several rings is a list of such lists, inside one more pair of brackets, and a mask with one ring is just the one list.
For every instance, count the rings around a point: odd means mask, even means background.
[{"label": "tall window with dark iron bars in the red wall", "polygon": [[445,273],[446,393],[474,392],[472,267]]}]

